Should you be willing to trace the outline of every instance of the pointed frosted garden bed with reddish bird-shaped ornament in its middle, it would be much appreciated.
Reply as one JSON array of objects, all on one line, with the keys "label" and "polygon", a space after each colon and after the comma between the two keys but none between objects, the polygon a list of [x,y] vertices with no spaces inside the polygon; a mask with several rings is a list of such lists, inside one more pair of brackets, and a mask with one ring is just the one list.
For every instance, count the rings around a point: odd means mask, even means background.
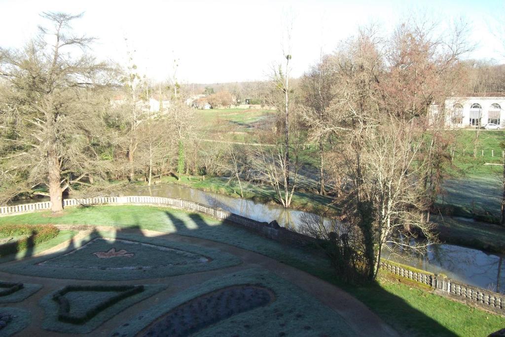
[{"label": "pointed frosted garden bed with reddish bird-shaped ornament in its middle", "polygon": [[[114,256],[107,256],[111,253]],[[239,263],[238,257],[212,248],[134,234],[120,234],[114,238],[110,233],[96,232],[64,252],[0,269],[42,277],[123,280],[180,275]]]}]

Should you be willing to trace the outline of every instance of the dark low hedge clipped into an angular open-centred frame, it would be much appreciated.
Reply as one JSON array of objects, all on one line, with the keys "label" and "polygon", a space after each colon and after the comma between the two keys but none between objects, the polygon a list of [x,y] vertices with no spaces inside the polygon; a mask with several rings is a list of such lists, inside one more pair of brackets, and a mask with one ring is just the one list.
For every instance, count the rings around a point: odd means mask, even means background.
[{"label": "dark low hedge clipped into an angular open-centred frame", "polygon": [[[107,301],[98,303],[87,310],[83,315],[70,314],[70,303],[65,298],[65,294],[75,291],[93,291],[93,292],[121,292]],[[71,324],[84,324],[100,311],[118,303],[119,301],[144,291],[144,286],[67,286],[53,295],[53,300],[58,303],[58,319],[62,322]]]}]

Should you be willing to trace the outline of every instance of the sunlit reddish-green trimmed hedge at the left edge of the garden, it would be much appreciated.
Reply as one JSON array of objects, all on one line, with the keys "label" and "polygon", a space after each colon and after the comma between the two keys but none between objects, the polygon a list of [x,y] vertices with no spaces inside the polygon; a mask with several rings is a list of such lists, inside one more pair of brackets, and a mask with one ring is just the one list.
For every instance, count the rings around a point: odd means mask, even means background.
[{"label": "sunlit reddish-green trimmed hedge at the left edge of the garden", "polygon": [[0,238],[28,236],[16,242],[0,245],[0,257],[34,247],[42,242],[56,238],[60,230],[52,225],[6,224],[0,226]]}]

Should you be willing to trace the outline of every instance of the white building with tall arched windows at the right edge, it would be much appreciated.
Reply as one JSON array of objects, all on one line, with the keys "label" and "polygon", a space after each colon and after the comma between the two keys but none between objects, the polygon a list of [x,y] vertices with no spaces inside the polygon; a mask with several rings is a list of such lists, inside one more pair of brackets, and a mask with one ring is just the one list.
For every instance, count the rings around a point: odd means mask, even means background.
[{"label": "white building with tall arched windows at the right edge", "polygon": [[[500,96],[501,95],[501,96]],[[505,95],[449,97],[445,100],[446,124],[453,128],[494,123],[505,127]]]}]

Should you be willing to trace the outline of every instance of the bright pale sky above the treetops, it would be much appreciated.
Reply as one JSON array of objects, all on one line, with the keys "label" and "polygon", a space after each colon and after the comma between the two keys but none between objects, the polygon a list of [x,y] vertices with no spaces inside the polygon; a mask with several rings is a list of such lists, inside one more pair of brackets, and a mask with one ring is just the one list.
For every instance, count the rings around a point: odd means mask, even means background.
[{"label": "bright pale sky above the treetops", "polygon": [[296,77],[360,26],[375,22],[388,32],[410,13],[427,13],[442,24],[463,18],[476,44],[469,57],[503,63],[496,13],[504,9],[505,0],[0,0],[0,46],[22,47],[37,25],[46,23],[39,16],[42,12],[84,12],[73,28],[77,34],[98,38],[92,52],[99,59],[125,65],[130,51],[138,72],[154,81],[265,80],[273,64],[285,60],[288,49],[291,75]]}]

